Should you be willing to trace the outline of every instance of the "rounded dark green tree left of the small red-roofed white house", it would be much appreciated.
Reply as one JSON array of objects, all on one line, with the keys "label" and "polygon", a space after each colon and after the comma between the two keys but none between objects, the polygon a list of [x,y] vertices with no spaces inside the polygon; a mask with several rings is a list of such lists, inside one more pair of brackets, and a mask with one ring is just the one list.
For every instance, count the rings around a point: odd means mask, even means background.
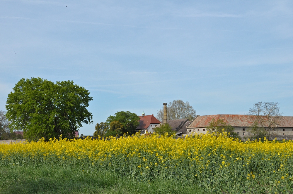
[{"label": "rounded dark green tree left of the small red-roofed white house", "polygon": [[135,113],[129,111],[120,111],[116,112],[115,116],[110,115],[106,122],[110,125],[110,123],[113,121],[119,121],[123,125],[122,134],[128,132],[129,135],[132,135],[135,133],[135,129],[139,126],[139,120],[139,116],[137,116]]}]

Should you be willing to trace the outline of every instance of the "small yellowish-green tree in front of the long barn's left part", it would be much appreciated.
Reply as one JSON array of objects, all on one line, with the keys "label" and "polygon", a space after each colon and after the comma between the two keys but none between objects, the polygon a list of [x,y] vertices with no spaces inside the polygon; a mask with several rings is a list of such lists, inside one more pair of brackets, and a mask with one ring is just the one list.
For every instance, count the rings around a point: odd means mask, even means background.
[{"label": "small yellowish-green tree in front of the long barn's left part", "polygon": [[214,133],[215,136],[219,136],[219,134],[222,134],[223,132],[230,133],[228,134],[229,137],[233,138],[239,138],[239,135],[234,132],[234,128],[230,125],[227,124],[223,119],[214,119],[212,118],[212,121],[209,122],[209,126],[207,127],[207,130],[209,133]]}]

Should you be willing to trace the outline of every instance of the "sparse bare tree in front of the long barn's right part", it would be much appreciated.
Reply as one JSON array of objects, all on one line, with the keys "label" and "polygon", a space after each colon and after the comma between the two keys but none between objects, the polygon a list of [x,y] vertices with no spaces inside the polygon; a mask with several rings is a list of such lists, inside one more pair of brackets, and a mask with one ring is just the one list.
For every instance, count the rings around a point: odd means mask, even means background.
[{"label": "sparse bare tree in front of the long barn's right part", "polygon": [[[255,119],[254,127],[256,125],[259,129],[267,131],[268,138],[276,135],[275,128],[278,127],[281,121],[282,112],[280,112],[279,103],[277,102],[258,102],[254,103],[253,107],[249,109],[248,115],[252,115]],[[257,131],[255,131],[257,133]]]}]

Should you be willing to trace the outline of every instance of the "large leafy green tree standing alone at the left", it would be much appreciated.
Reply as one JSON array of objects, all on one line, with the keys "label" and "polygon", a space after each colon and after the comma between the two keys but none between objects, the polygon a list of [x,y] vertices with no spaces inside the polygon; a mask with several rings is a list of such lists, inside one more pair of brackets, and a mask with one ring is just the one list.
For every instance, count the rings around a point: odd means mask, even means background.
[{"label": "large leafy green tree standing alone at the left", "polygon": [[93,98],[89,91],[72,81],[21,79],[8,95],[6,117],[11,127],[24,131],[25,138],[74,137],[82,123],[93,122],[86,108]]}]

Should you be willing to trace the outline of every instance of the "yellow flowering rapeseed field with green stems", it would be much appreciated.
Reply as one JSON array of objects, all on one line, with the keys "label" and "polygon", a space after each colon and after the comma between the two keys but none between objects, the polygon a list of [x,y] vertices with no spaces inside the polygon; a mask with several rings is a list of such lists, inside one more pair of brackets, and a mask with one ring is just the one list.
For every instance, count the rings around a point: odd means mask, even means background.
[{"label": "yellow flowering rapeseed field with green stems", "polygon": [[207,193],[293,193],[293,143],[234,141],[227,136],[125,136],[1,144],[0,168],[91,167],[123,179],[167,180]]}]

